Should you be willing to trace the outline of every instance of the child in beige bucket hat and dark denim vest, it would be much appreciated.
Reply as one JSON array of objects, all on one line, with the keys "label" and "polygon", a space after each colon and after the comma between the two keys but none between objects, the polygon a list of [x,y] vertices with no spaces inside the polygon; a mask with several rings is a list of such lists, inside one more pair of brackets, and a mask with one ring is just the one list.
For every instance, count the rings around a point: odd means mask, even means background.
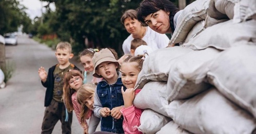
[{"label": "child in beige bucket hat and dark denim vest", "polygon": [[98,83],[94,99],[94,114],[101,118],[101,131],[124,133],[123,117],[120,112],[124,105],[121,87],[124,86],[119,72],[119,62],[108,49],[95,52],[94,62],[95,77],[103,77]]}]

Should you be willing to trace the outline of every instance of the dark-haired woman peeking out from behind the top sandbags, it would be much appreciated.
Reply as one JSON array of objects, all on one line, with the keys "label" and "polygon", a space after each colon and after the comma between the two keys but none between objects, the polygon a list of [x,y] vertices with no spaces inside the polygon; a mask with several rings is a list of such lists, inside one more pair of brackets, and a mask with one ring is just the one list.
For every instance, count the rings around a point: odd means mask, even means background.
[{"label": "dark-haired woman peeking out from behind the top sandbags", "polygon": [[174,32],[180,13],[169,0],[145,0],[137,8],[138,21],[161,34]]}]

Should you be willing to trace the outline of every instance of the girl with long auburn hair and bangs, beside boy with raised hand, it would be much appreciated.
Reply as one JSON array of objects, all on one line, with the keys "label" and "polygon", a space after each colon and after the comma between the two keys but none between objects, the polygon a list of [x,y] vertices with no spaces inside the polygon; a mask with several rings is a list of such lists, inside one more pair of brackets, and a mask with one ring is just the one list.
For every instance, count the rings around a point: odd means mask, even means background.
[{"label": "girl with long auburn hair and bangs, beside boy with raised hand", "polygon": [[[75,111],[78,122],[84,129],[84,133],[88,133],[88,125],[86,120],[84,122],[80,122],[80,111],[82,108],[80,104],[77,102],[76,93],[83,85],[83,75],[77,70],[69,70],[64,77],[64,86],[63,86],[63,101],[65,103],[66,109],[69,113],[73,110]],[[91,111],[88,113],[88,119],[91,116]]]}]

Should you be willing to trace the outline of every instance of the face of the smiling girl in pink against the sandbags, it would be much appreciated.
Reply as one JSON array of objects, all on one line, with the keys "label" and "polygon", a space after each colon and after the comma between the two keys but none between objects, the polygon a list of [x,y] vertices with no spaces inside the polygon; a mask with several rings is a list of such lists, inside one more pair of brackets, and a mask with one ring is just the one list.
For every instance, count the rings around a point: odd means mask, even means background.
[{"label": "face of the smiling girl in pink against the sandbags", "polygon": [[122,73],[122,83],[126,88],[134,88],[135,83],[137,81],[139,71],[136,66],[138,63],[136,62],[124,62],[121,65],[121,73]]}]

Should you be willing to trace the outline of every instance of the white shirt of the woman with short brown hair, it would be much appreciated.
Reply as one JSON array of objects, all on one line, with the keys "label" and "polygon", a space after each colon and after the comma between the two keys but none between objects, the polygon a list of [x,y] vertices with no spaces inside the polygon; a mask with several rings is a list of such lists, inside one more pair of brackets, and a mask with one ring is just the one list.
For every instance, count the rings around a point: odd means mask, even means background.
[{"label": "white shirt of the woman with short brown hair", "polygon": [[[124,52],[124,54],[130,54],[131,53],[131,42],[132,42],[133,39],[134,38],[131,34],[124,40],[124,42],[123,42],[123,52]],[[157,33],[154,30],[150,29],[149,26],[147,26],[146,34],[142,39],[153,50],[167,47],[168,43],[170,41],[170,39],[167,37],[166,34]]]}]

